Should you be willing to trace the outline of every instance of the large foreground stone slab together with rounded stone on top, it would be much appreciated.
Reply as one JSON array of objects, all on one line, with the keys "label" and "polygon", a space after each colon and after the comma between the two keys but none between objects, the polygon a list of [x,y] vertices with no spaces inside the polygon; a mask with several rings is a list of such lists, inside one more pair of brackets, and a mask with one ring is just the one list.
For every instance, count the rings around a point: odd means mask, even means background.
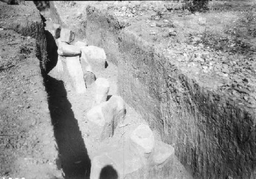
[{"label": "large foreground stone slab together with rounded stone on top", "polygon": [[124,145],[116,144],[92,159],[91,179],[101,178],[106,166],[114,171],[113,178],[168,178],[173,171],[174,148],[155,141],[153,132],[145,124],[139,125]]}]

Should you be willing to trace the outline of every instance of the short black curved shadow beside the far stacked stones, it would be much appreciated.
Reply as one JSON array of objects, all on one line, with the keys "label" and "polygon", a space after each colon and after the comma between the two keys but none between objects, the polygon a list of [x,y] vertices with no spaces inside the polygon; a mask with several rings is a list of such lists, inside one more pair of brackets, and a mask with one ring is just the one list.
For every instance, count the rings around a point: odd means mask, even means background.
[{"label": "short black curved shadow beside the far stacked stones", "polygon": [[58,61],[58,47],[56,45],[55,39],[49,31],[45,30],[46,44],[47,44],[47,63],[46,63],[46,73],[50,72],[57,64]]}]

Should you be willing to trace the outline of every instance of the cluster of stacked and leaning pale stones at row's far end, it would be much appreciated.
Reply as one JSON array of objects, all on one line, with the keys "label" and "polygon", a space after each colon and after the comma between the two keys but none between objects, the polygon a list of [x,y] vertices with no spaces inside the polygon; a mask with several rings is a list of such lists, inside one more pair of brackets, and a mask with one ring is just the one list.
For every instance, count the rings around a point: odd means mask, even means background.
[{"label": "cluster of stacked and leaning pale stones at row's far end", "polygon": [[74,33],[69,29],[61,29],[60,25],[54,24],[54,30],[52,30],[53,36],[56,38],[56,45],[58,47],[58,61],[56,69],[58,72],[63,71],[63,64],[61,57],[65,57],[65,63],[73,86],[77,93],[86,92],[86,88],[89,88],[96,76],[94,71],[104,70],[106,64],[106,55],[102,48],[90,45],[86,42],[77,41],[74,44],[70,44],[74,41]]}]

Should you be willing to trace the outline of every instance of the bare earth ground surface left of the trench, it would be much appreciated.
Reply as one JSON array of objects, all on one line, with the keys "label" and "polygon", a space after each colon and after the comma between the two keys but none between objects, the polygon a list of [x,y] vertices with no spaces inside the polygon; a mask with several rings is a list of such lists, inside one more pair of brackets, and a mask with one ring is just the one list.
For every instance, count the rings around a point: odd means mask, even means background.
[{"label": "bare earth ground surface left of the trench", "polygon": [[32,2],[0,2],[0,177],[63,178],[36,54],[44,38]]}]

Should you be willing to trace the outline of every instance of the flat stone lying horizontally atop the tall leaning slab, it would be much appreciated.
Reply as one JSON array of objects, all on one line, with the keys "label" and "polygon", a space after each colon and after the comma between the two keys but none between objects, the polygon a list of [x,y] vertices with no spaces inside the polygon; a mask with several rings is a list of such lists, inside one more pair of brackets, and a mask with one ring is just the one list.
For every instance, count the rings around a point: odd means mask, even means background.
[{"label": "flat stone lying horizontally atop the tall leaning slab", "polygon": [[72,57],[81,54],[81,50],[75,45],[70,45],[65,42],[58,42],[58,54],[60,56]]}]

